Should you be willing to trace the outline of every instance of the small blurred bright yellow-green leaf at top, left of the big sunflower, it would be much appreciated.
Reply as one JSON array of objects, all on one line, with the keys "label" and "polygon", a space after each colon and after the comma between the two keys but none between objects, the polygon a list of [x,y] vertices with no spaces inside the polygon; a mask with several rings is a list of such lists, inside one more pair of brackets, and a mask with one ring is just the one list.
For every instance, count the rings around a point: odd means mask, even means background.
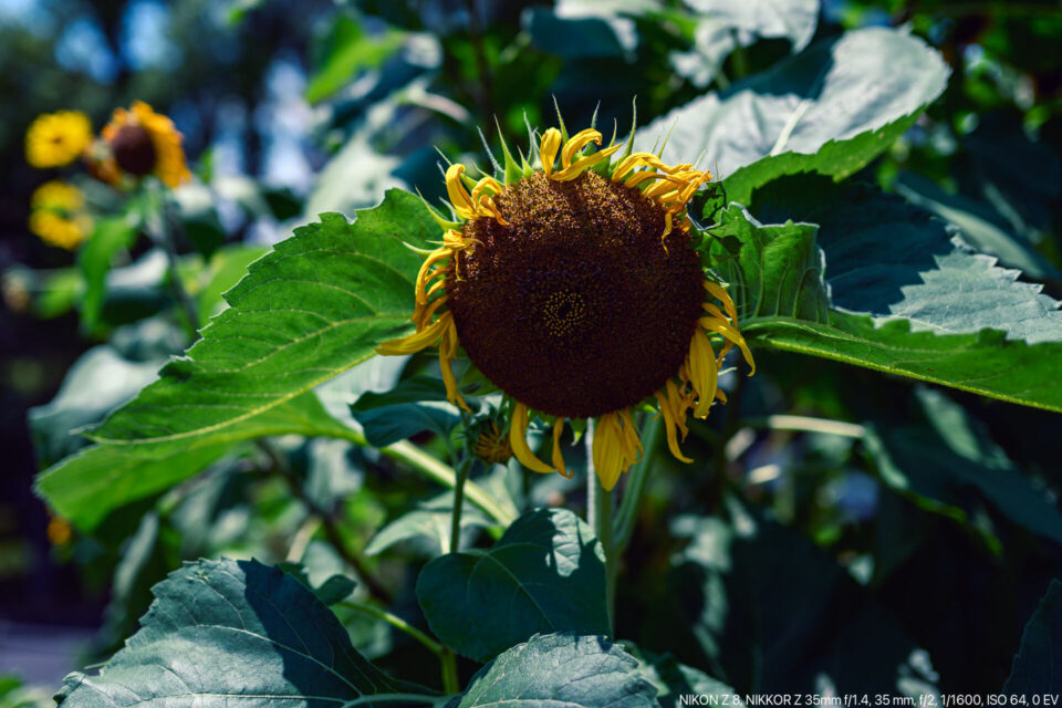
[{"label": "small blurred bright yellow-green leaf at top, left of the big sunflower", "polygon": [[325,38],[324,60],[310,79],[306,101],[317,103],[336,93],[366,69],[375,69],[402,46],[405,34],[385,30],[367,34],[356,20],[341,15]]}]

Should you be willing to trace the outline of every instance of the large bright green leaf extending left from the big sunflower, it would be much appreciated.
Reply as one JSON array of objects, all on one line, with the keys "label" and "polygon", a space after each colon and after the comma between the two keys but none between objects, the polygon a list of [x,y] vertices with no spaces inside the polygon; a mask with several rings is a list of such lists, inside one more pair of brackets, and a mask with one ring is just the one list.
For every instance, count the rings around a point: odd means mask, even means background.
[{"label": "large bright green leaf extending left from the big sunflower", "polygon": [[98,446],[44,472],[39,493],[91,529],[240,440],[347,437],[309,392],[413,329],[421,259],[405,243],[426,247],[441,236],[421,200],[399,190],[357,216],[350,223],[324,215],[252,263],[202,339],[90,434]]}]

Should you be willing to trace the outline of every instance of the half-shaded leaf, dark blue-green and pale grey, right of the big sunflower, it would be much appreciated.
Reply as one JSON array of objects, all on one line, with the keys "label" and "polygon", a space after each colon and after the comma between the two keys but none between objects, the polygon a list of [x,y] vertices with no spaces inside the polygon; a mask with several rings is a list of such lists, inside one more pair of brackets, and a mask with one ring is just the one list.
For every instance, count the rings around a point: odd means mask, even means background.
[{"label": "half-shaded leaf, dark blue-green and pale grey, right of the big sunflower", "polygon": [[1059,303],[1041,285],[971,253],[954,228],[895,196],[802,176],[758,190],[750,210],[820,226],[834,305],[939,334],[991,327],[1030,343],[1062,341]]}]

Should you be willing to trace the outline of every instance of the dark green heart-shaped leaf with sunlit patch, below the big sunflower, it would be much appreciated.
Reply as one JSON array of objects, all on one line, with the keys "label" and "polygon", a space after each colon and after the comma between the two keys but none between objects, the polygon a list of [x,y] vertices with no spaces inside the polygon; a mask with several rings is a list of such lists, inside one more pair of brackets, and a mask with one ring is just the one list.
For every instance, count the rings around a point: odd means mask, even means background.
[{"label": "dark green heart-shaped leaf with sunlit patch, below the big sunflower", "polygon": [[487,551],[425,565],[417,600],[447,646],[489,662],[538,632],[607,634],[604,552],[566,509],[517,519]]}]

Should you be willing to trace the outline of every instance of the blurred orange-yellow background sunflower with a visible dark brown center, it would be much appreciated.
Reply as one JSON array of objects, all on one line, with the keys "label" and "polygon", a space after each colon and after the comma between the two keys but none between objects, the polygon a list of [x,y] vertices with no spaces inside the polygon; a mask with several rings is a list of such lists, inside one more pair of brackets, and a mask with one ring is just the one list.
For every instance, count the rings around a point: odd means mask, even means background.
[{"label": "blurred orange-yellow background sunflower with a visible dark brown center", "polygon": [[181,134],[173,121],[143,101],[135,101],[128,111],[115,108],[102,135],[111,155],[95,174],[105,181],[116,183],[122,173],[135,177],[154,174],[170,188],[191,179],[180,146]]}]

